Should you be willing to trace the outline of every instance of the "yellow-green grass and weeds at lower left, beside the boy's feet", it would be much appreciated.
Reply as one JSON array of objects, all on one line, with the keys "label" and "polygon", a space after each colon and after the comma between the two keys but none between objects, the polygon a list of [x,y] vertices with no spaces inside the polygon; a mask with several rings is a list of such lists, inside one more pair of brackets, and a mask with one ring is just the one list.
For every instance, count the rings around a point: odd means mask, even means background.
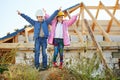
[{"label": "yellow-green grass and weeds at lower left, beside the boy's feet", "polygon": [[[40,80],[38,70],[28,64],[12,64],[15,60],[17,49],[4,53],[0,58],[0,80]],[[26,62],[26,57],[25,57]]]}]

